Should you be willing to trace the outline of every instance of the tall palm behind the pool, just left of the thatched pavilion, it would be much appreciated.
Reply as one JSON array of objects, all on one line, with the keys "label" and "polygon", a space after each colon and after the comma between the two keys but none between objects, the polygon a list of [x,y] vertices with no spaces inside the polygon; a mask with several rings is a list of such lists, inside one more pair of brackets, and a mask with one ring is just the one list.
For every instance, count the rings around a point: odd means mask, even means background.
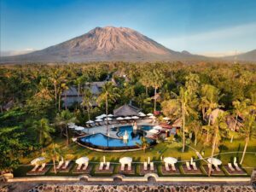
[{"label": "tall palm behind the pool, just left of the thatched pavilion", "polygon": [[101,104],[105,102],[105,109],[107,114],[107,134],[108,134],[108,101],[115,102],[116,99],[119,97],[118,89],[113,86],[112,82],[107,82],[102,87],[102,93],[97,98],[97,102]]}]

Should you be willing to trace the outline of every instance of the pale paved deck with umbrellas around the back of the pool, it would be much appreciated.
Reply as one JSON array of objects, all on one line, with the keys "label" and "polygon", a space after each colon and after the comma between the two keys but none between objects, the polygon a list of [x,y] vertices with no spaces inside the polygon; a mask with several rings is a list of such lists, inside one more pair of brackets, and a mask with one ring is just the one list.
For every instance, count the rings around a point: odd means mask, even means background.
[{"label": "pale paved deck with umbrellas around the back of the pool", "polygon": [[[101,125],[101,126],[94,126],[94,127],[90,127],[90,128],[84,128],[84,133],[86,133],[87,135],[93,135],[96,133],[102,133],[103,135],[106,135],[108,137],[112,137],[112,138],[116,138],[116,139],[122,139],[121,137],[117,136],[117,132],[118,131],[113,131],[112,128],[113,127],[121,127],[121,126],[131,126],[132,123],[126,123],[126,124],[120,124],[117,121],[113,121],[113,123],[111,125],[108,125],[108,133],[107,133],[107,125]],[[153,123],[152,119],[140,119],[137,120],[137,125],[158,125],[157,122]],[[147,133],[146,137],[153,137],[154,134],[149,132],[149,131],[145,131]]]}]

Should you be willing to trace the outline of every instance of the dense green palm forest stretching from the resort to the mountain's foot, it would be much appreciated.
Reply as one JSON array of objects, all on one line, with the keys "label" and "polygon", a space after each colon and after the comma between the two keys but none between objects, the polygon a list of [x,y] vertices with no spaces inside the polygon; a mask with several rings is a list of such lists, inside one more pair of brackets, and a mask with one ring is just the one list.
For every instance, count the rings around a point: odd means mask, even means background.
[{"label": "dense green palm forest stretching from the resort to the mountain's foot", "polygon": [[[106,79],[111,83],[103,87],[98,98],[83,89],[83,84]],[[81,105],[67,110],[61,104],[61,93],[72,85],[79,87],[84,98]],[[106,92],[109,112],[132,102],[145,113],[160,111],[172,121],[182,117],[185,131],[197,132],[205,127],[208,136],[211,127],[205,117],[220,108],[236,121],[243,119],[247,126],[241,129],[241,137],[249,140],[256,135],[253,64],[102,62],[0,66],[0,170],[11,169],[19,164],[20,157],[43,150],[65,132],[61,122],[76,119],[83,125],[89,117],[104,113]],[[96,102],[97,107],[91,108],[91,102]],[[7,111],[8,103],[12,105]]]}]

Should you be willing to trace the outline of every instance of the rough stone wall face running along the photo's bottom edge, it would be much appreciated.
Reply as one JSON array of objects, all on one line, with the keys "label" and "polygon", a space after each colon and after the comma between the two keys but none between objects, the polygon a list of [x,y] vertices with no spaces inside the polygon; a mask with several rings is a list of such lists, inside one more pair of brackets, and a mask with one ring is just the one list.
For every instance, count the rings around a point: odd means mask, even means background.
[{"label": "rough stone wall face running along the photo's bottom edge", "polygon": [[197,192],[197,191],[224,191],[224,192],[254,192],[252,185],[63,185],[63,184],[41,184],[29,192]]}]

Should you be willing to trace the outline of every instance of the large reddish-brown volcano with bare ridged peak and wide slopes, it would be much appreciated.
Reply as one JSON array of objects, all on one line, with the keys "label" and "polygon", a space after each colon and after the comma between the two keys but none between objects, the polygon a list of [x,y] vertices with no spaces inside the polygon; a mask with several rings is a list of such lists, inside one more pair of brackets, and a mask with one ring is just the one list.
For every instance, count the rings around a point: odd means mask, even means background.
[{"label": "large reddish-brown volcano with bare ridged peak and wide slopes", "polygon": [[1,62],[60,61],[188,61],[207,57],[167,49],[127,27],[96,27],[64,43],[26,55],[2,57]]}]

